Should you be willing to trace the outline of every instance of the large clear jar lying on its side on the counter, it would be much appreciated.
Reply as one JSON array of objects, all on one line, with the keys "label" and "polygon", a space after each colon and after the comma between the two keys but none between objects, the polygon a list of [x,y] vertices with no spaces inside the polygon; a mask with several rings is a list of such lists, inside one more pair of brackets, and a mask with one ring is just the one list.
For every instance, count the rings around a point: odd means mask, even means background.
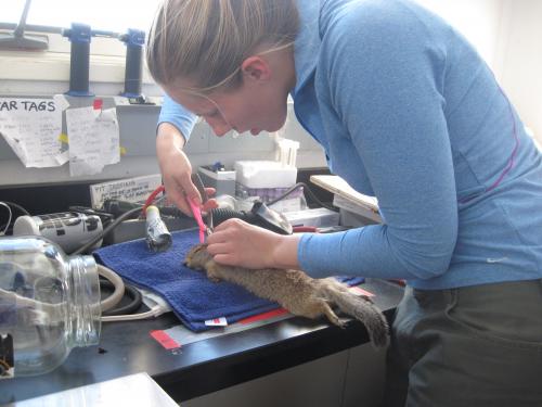
[{"label": "large clear jar lying on its side on the counter", "polygon": [[42,237],[0,238],[0,380],[46,373],[98,344],[98,269]]}]

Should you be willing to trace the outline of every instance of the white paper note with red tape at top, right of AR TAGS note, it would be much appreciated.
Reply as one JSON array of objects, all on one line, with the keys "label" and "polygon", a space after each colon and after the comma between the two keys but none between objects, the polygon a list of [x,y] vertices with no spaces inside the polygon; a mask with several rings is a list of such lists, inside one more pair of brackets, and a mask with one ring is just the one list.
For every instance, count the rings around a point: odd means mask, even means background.
[{"label": "white paper note with red tape at top, right of AR TAGS note", "polygon": [[68,109],[69,175],[93,175],[120,161],[119,129],[115,109]]}]

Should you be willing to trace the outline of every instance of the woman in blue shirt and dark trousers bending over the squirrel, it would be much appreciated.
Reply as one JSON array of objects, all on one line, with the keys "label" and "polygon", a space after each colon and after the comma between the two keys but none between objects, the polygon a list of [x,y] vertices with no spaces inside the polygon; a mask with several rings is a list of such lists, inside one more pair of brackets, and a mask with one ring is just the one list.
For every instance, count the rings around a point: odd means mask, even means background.
[{"label": "woman in blue shirt and dark trousers bending over the squirrel", "polygon": [[157,154],[184,212],[194,114],[275,131],[288,93],[332,171],[378,199],[383,225],[333,234],[227,221],[217,262],[405,279],[388,406],[542,405],[542,160],[460,34],[408,0],[171,0],[147,63],[175,101]]}]

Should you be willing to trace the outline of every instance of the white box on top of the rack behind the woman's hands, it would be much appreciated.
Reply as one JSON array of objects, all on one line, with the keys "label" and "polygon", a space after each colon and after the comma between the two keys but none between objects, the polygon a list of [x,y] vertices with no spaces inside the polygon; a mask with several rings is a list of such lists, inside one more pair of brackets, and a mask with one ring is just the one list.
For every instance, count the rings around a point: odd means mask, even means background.
[{"label": "white box on top of the rack behind the woman's hands", "polygon": [[296,183],[297,168],[274,161],[235,162],[237,182],[247,188],[288,188]]}]

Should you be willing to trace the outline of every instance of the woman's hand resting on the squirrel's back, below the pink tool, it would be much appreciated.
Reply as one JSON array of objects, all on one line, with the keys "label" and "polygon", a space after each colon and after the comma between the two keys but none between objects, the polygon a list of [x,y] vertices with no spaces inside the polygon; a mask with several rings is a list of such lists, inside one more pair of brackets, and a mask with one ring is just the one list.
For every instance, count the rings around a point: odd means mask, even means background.
[{"label": "woman's hand resting on the squirrel's back, below the pink tool", "polygon": [[217,226],[207,239],[207,251],[217,263],[251,269],[297,268],[298,237],[282,236],[228,219]]}]

